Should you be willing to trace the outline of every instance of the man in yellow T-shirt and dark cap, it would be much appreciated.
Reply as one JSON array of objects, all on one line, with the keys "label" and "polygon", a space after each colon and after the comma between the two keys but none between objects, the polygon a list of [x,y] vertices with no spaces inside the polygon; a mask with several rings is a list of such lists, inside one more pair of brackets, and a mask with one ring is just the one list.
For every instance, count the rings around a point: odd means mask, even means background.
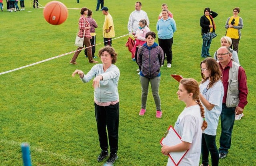
[{"label": "man in yellow T-shirt and dark cap", "polygon": [[102,14],[105,15],[103,24],[103,40],[105,46],[112,46],[112,38],[115,37],[114,22],[112,16],[108,13],[108,7],[102,8]]}]

